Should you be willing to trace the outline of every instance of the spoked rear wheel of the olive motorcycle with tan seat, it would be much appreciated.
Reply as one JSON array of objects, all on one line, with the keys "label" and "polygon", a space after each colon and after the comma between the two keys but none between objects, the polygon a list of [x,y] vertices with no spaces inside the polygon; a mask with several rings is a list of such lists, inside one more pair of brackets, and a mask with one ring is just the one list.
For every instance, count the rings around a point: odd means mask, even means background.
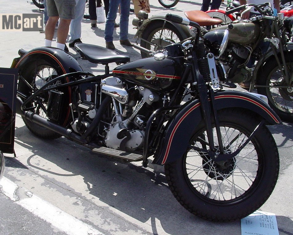
[{"label": "spoked rear wheel of the olive motorcycle with tan seat", "polygon": [[[162,50],[165,46],[183,41],[185,38],[170,23],[160,20],[150,23],[142,33],[140,46],[148,50]],[[142,58],[150,57],[147,53],[141,52]]]}]

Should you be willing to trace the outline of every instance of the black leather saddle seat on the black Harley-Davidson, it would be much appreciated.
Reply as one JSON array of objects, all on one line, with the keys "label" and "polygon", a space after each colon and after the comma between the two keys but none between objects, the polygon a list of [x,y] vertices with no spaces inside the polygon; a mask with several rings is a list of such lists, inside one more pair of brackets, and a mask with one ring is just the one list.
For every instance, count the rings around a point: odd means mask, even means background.
[{"label": "black leather saddle seat on the black Harley-Davidson", "polygon": [[79,52],[83,59],[95,64],[106,65],[108,63],[126,63],[130,61],[130,57],[119,55],[117,52],[92,44],[75,43],[75,49]]}]

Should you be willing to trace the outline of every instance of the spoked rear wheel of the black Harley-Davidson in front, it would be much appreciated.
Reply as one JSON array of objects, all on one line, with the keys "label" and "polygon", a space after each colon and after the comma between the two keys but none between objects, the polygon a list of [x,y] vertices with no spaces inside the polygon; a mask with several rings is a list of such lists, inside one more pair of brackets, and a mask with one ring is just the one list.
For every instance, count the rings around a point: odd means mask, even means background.
[{"label": "spoked rear wheel of the black Harley-Davidson in front", "polygon": [[[46,82],[49,82],[50,80],[57,78],[58,76],[64,74],[61,70],[60,66],[58,64],[55,64],[54,62],[49,62],[45,60],[38,60],[38,61],[31,61],[28,64],[26,64],[25,68],[20,69],[19,75],[22,76],[26,82],[30,84],[31,87],[29,87],[22,79],[19,79],[18,82],[18,91],[20,91],[22,94],[25,94],[27,97],[29,97],[32,93],[34,93],[36,90],[38,90],[41,86],[46,84]],[[58,82],[62,83],[62,82]],[[57,84],[57,83],[56,83]],[[56,85],[55,84],[55,85]],[[51,85],[51,86],[54,86]],[[32,90],[34,88],[34,90]],[[63,95],[63,102],[68,102],[69,98],[69,90],[68,88],[60,90],[64,93]],[[47,108],[47,102],[48,102],[48,96],[49,92],[41,93],[36,100],[34,100],[31,103],[31,106],[34,106],[34,109],[31,110],[34,113],[40,115],[41,117],[47,118],[46,116],[46,108]],[[22,98],[23,99],[23,98]],[[38,99],[38,100],[37,100]],[[65,107],[65,105],[63,106]],[[52,121],[54,123],[57,123],[59,125],[65,126],[67,124],[68,116],[69,116],[69,106],[66,105],[66,108],[62,109],[63,112],[60,115],[59,121]],[[45,139],[55,139],[59,138],[61,135],[57,134],[56,132],[49,130],[45,127],[39,126],[26,118],[22,118],[26,127],[34,133],[36,136],[40,138]]]}]

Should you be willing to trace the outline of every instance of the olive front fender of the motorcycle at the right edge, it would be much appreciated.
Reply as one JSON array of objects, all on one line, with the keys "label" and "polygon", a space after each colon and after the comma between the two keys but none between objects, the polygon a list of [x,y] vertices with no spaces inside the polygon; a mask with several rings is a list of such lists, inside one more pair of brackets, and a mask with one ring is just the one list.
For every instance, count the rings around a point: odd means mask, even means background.
[{"label": "olive front fender of the motorcycle at the right edge", "polygon": [[[280,48],[277,50],[278,57],[281,59],[281,53],[280,53]],[[287,45],[283,46],[283,52],[284,54],[290,53],[291,58],[293,58],[293,44],[292,45]],[[266,54],[262,56],[262,58],[256,63],[255,68],[253,70],[252,74],[252,84],[257,84],[257,78],[259,77],[260,73],[262,73],[262,67],[263,65],[268,62],[269,60],[275,60],[274,52],[272,49],[268,50]]]}]

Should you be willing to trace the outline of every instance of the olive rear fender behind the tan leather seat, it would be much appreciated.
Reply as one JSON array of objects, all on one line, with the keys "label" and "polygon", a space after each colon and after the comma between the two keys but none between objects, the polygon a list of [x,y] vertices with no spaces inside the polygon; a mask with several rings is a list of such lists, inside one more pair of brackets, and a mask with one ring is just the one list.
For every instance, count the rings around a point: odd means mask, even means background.
[{"label": "olive rear fender behind the tan leather seat", "polygon": [[151,23],[153,24],[153,23],[155,23],[156,21],[166,21],[166,22],[168,22],[169,24],[173,25],[173,26],[179,31],[179,33],[183,36],[183,38],[190,38],[190,37],[192,37],[191,30],[189,29],[188,26],[186,26],[186,25],[181,25],[181,24],[176,24],[176,23],[173,23],[173,22],[171,22],[171,21],[167,21],[167,20],[165,19],[165,15],[154,15],[154,16],[152,16],[152,17],[150,17],[150,18],[147,18],[147,19],[142,23],[142,25],[138,28],[137,33],[136,33],[137,37],[138,37],[138,38],[141,38],[142,33],[143,33],[143,31],[145,30],[145,28],[147,28],[147,26],[148,26],[149,24],[151,24]]}]

